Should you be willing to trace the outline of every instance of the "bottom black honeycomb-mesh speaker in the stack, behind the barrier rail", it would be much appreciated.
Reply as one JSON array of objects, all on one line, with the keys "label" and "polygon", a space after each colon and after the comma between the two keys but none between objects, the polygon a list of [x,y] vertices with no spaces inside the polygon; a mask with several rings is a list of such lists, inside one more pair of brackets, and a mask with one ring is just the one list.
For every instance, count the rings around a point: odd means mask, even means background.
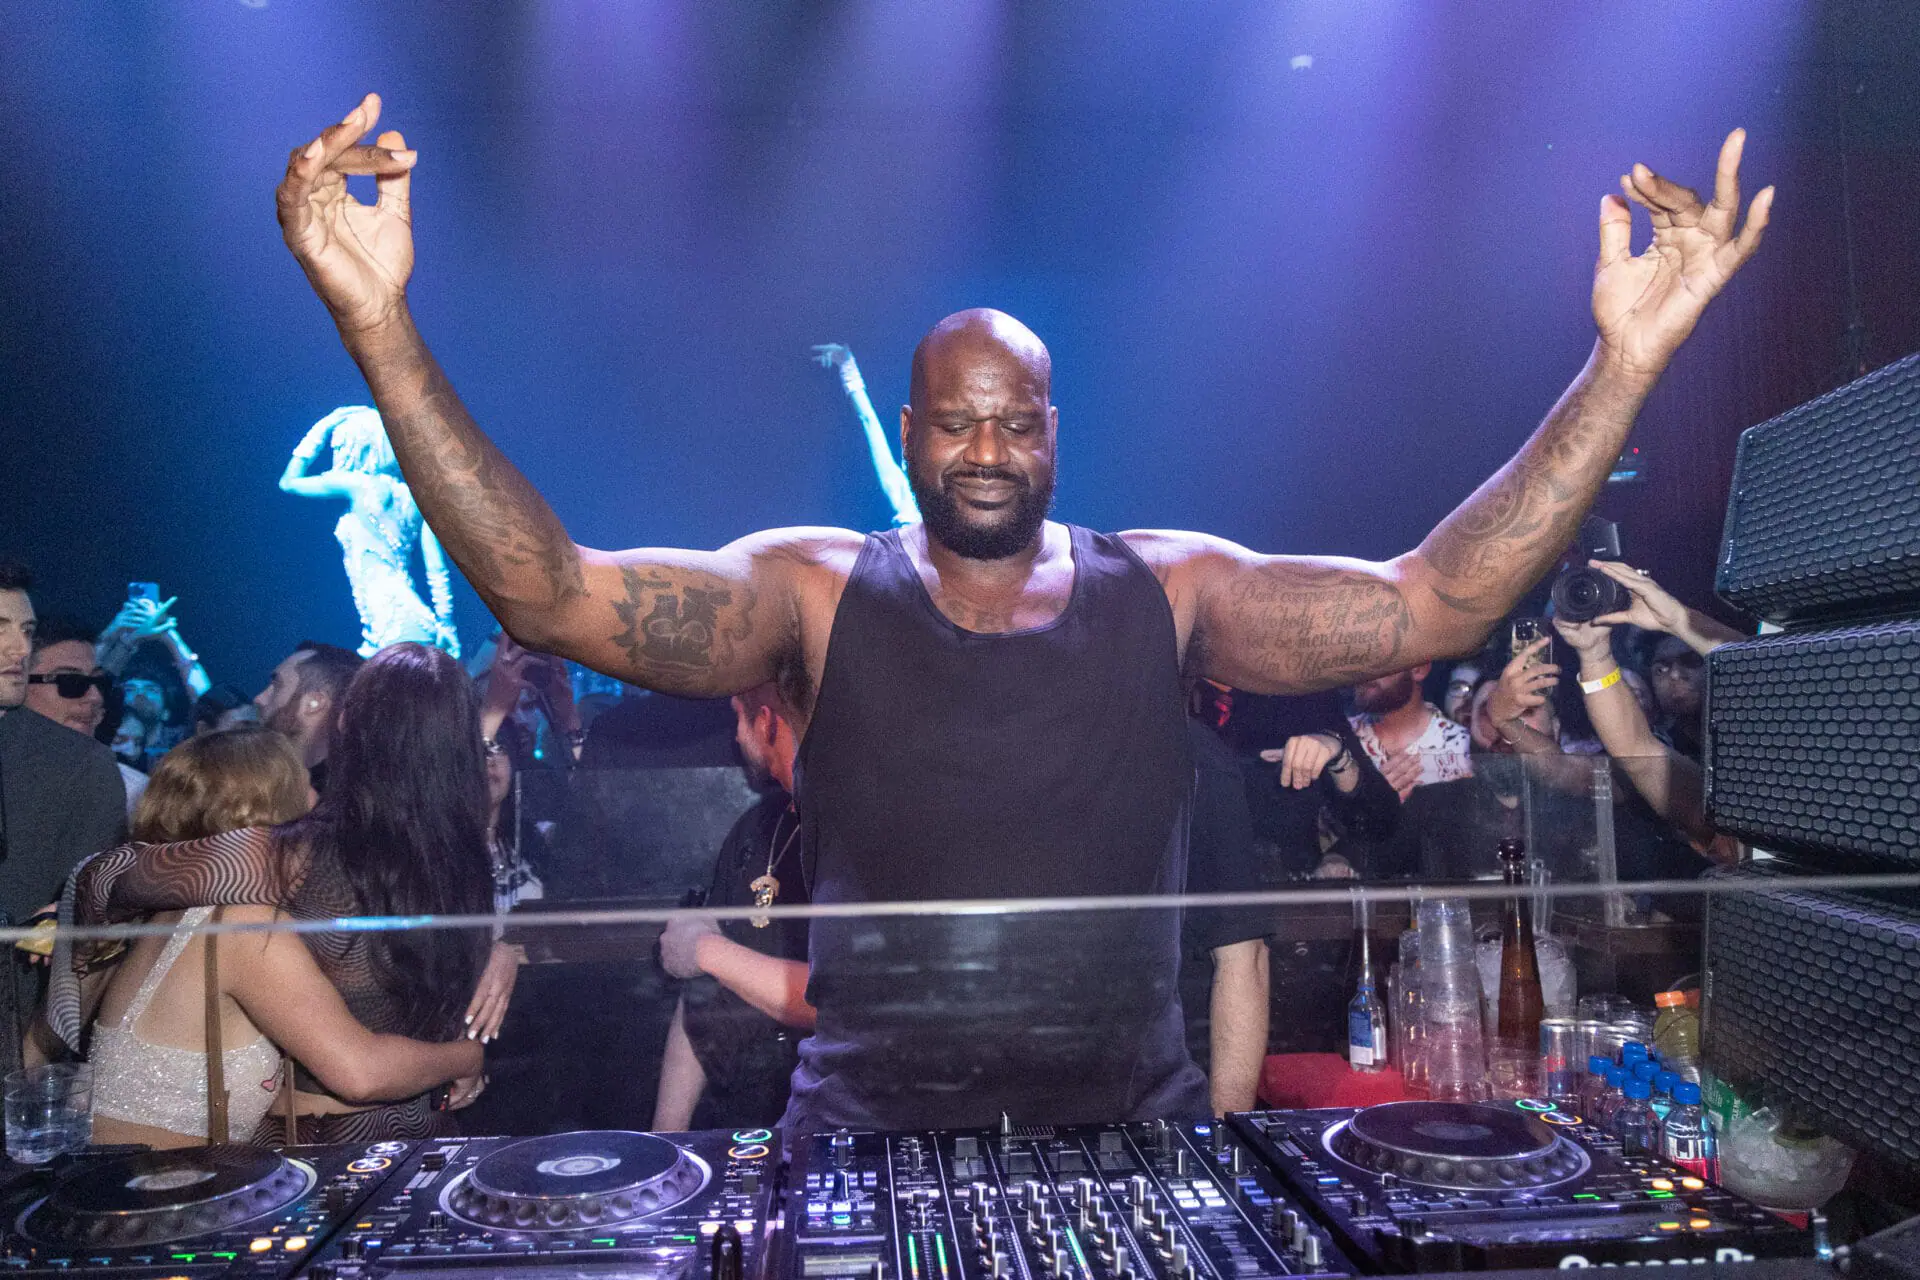
[{"label": "bottom black honeycomb-mesh speaker in the stack, behind the barrier rail", "polygon": [[[1782,877],[1743,873],[1738,879]],[[1920,1171],[1920,906],[1908,894],[1707,900],[1707,1065]]]}]

